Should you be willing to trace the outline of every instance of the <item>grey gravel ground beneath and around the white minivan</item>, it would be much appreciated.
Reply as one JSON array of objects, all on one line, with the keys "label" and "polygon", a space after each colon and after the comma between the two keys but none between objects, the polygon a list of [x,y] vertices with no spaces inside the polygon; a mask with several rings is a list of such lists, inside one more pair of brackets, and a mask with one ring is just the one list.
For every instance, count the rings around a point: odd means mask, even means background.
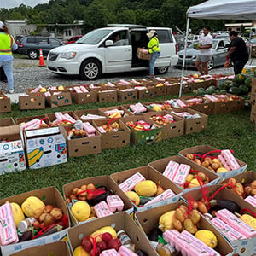
[{"label": "grey gravel ground beneath and around the white minivan", "polygon": [[[46,60],[44,60],[46,64]],[[25,88],[33,88],[38,85],[73,85],[73,84],[90,84],[90,81],[79,79],[78,76],[61,76],[49,72],[47,67],[38,67],[38,60],[17,59],[14,60],[14,79],[15,93],[24,92]],[[168,72],[163,77],[180,77],[181,69],[170,67]],[[184,74],[189,75],[196,73],[195,69],[185,70]],[[233,73],[233,68],[214,68],[210,74]],[[101,79],[93,81],[93,83],[116,82],[119,79],[143,79],[148,75],[148,72],[133,72],[133,73],[111,73],[102,75]],[[0,90],[7,91],[8,84],[0,82]]]}]

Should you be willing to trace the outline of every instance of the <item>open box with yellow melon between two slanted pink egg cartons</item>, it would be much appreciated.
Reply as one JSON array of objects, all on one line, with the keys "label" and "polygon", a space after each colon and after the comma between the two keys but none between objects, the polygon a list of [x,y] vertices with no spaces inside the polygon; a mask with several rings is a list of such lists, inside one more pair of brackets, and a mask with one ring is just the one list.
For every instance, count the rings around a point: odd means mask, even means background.
[{"label": "open box with yellow melon between two slanted pink egg cartons", "polygon": [[130,198],[136,212],[178,201],[182,195],[182,189],[150,166],[116,172],[110,177]]}]

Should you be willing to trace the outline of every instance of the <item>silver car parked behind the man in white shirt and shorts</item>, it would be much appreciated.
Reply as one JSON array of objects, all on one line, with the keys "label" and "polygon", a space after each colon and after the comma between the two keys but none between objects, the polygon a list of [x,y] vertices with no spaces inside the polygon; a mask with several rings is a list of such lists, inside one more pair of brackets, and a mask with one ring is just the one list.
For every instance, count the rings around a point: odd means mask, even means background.
[{"label": "silver car parked behind the man in white shirt and shorts", "polygon": [[[208,62],[208,69],[224,65],[226,59],[225,55],[228,52],[229,41],[213,39],[212,42],[212,61]],[[195,59],[199,51],[193,48],[193,44],[189,45],[186,52],[185,67],[195,67]],[[177,67],[183,66],[184,50],[178,52]]]}]

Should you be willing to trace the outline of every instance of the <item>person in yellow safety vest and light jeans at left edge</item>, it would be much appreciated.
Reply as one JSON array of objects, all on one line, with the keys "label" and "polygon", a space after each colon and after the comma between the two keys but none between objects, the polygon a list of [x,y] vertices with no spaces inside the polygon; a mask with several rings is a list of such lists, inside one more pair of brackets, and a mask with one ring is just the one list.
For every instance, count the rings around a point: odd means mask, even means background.
[{"label": "person in yellow safety vest and light jeans at left edge", "polygon": [[9,84],[9,93],[14,93],[13,55],[12,50],[18,49],[15,39],[9,34],[7,26],[0,21],[0,67],[3,67]]}]

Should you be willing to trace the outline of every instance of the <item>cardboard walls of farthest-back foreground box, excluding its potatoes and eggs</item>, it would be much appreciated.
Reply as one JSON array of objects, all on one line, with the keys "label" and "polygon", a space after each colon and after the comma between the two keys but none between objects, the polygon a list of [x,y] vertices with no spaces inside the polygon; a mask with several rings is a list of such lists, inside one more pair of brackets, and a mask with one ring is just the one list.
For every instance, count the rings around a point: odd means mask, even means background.
[{"label": "cardboard walls of farthest-back foreground box, excluding its potatoes and eggs", "polygon": [[[185,156],[186,154],[198,154],[199,152],[201,154],[206,154],[210,151],[215,151],[215,150],[218,150],[218,149],[213,148],[212,146],[209,146],[209,145],[200,145],[200,146],[195,146],[195,147],[191,147],[191,148],[185,148],[185,149],[181,150],[180,152],[178,152],[178,154],[183,155],[183,156]],[[211,155],[217,156],[218,154],[220,154],[220,152],[215,152],[215,153],[213,152]],[[192,160],[190,160],[190,161],[193,162]],[[245,172],[245,170],[247,169],[247,164],[242,162],[241,160],[238,160],[237,158],[236,158],[236,161],[241,166],[241,168],[239,168],[237,170],[230,171],[230,172],[221,172],[221,173],[216,173],[216,174],[218,174],[218,176],[222,179],[222,178],[233,177],[241,172]]]}]

